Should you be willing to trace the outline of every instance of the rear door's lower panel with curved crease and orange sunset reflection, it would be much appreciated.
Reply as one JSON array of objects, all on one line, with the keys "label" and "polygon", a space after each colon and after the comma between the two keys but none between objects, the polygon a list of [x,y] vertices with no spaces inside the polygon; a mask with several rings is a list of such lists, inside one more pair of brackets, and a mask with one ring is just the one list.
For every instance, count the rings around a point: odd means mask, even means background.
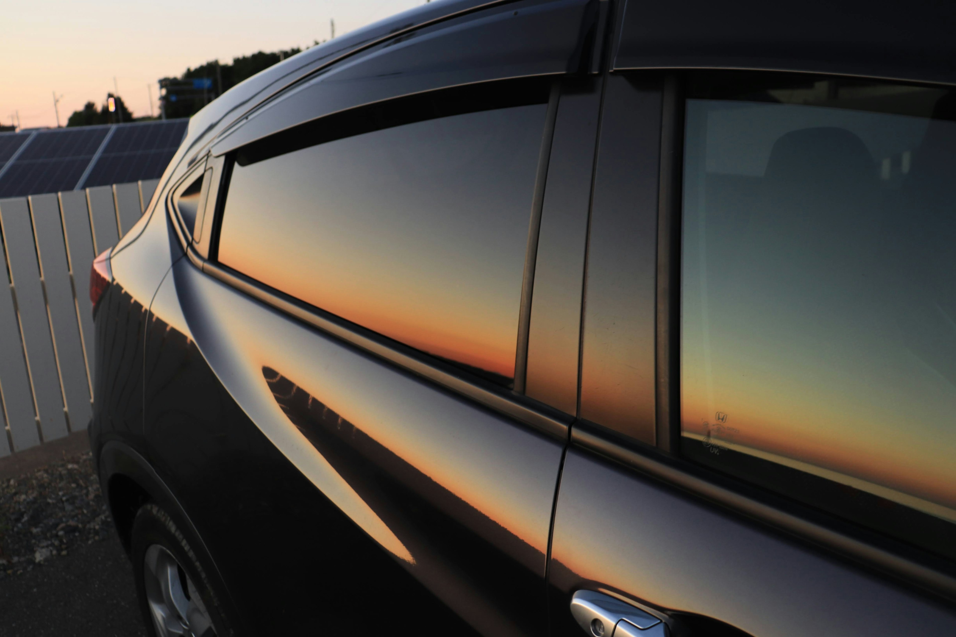
[{"label": "rear door's lower panel with curved crease and orange sunset reflection", "polygon": [[[538,631],[559,441],[321,335],[187,261],[174,273],[203,357],[276,449],[480,631]],[[292,393],[301,397],[283,402]],[[387,488],[405,496],[386,497]],[[445,544],[441,557],[436,544]],[[496,575],[481,577],[486,569]]]}]

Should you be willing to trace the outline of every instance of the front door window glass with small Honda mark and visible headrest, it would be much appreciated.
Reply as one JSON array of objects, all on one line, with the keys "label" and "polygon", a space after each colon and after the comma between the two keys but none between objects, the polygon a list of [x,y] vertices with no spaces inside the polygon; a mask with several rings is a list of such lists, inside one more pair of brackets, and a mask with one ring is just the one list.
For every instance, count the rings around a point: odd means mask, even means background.
[{"label": "front door window glass with small Honda mark and visible headrest", "polygon": [[956,95],[689,96],[684,454],[956,557]]}]

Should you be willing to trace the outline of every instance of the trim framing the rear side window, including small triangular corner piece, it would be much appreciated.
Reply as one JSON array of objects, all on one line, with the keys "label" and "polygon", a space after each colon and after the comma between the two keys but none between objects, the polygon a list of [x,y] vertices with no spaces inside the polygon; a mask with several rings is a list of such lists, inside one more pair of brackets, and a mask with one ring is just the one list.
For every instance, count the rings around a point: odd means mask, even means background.
[{"label": "trim framing the rear side window, including small triangular corner piece", "polygon": [[[539,76],[539,78],[545,79],[547,76]],[[498,81],[513,80],[491,80],[489,83]],[[542,131],[542,147],[538,156],[538,169],[534,183],[532,209],[529,210],[529,238],[525,253],[523,281],[527,281],[529,276],[533,277],[535,255],[532,255],[532,244],[533,247],[536,248],[541,205],[544,199],[544,180],[547,175],[547,162],[550,161],[551,140],[554,138],[554,121],[556,119],[557,104],[560,96],[560,86],[560,78],[553,78],[548,101],[548,112],[545,119],[544,130]],[[443,89],[439,89],[438,91],[443,91]],[[359,106],[357,108],[361,107]],[[331,314],[321,308],[316,308],[281,290],[256,281],[228,265],[218,263],[222,218],[228,199],[228,183],[231,177],[232,166],[235,162],[235,156],[236,152],[232,151],[224,157],[212,158],[213,162],[219,159],[223,161],[223,164],[221,170],[218,171],[220,177],[217,185],[218,190],[216,191],[215,209],[209,210],[208,206],[206,207],[206,215],[209,219],[206,219],[205,223],[211,223],[211,225],[204,229],[204,237],[208,237],[207,256],[202,254],[197,249],[197,245],[188,239],[188,234],[185,232],[185,226],[183,226],[178,211],[172,213],[177,222],[172,225],[192,265],[195,265],[204,273],[229,287],[234,287],[250,297],[272,308],[278,309],[312,328],[319,329],[327,335],[359,348],[359,350],[371,353],[405,372],[414,373],[441,386],[447,391],[465,396],[493,412],[509,416],[541,434],[549,435],[562,442],[568,440],[571,423],[574,420],[573,416],[564,414],[545,403],[530,398],[523,392],[509,390],[500,385],[496,385],[477,374],[467,372],[466,370],[437,360],[423,351],[410,348],[378,332],[365,329],[335,314]],[[203,163],[209,165],[209,161]],[[197,162],[197,165],[199,165],[199,162]],[[176,192],[190,176],[194,175],[194,170],[196,169],[191,169],[184,178],[177,181],[175,187],[170,189],[170,192]],[[539,190],[541,191],[540,193],[538,192]],[[169,197],[169,208],[172,210],[175,206],[171,205],[171,195]],[[535,223],[535,220],[537,220],[537,223]],[[531,268],[530,274],[529,267]],[[519,308],[516,356],[520,358],[523,351],[525,361],[527,361],[528,353],[528,326],[525,325],[524,329],[522,329],[521,324],[522,322],[530,323],[531,295],[532,286],[523,285],[521,307]],[[526,306],[528,311],[525,311]],[[527,314],[527,316],[525,316],[525,314]],[[523,350],[521,347],[522,334],[525,346]],[[523,366],[523,368],[524,367],[526,367],[526,365]],[[514,382],[515,387],[519,387],[517,366],[515,369]],[[523,387],[523,385],[524,379],[522,378],[521,387]]]}]

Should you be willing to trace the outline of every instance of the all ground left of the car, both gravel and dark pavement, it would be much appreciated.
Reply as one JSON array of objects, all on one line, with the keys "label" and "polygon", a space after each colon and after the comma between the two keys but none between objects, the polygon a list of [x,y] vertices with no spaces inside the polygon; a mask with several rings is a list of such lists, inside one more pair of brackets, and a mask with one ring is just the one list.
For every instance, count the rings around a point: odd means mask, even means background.
[{"label": "all ground left of the car, both gravel and dark pavement", "polygon": [[142,637],[133,569],[90,454],[59,454],[17,478],[15,457],[0,463],[0,636]]}]

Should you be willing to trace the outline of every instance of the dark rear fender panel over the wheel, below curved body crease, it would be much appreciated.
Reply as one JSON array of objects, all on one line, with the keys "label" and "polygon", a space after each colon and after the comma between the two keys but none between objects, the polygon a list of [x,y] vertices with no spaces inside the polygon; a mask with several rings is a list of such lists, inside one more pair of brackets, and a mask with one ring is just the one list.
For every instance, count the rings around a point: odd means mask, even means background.
[{"label": "dark rear fender panel over the wheel, below curved body crease", "polygon": [[176,283],[170,272],[150,311],[146,447],[228,586],[239,634],[301,634],[319,616],[352,630],[369,600],[397,625],[424,609],[468,634],[232,400],[193,339]]}]

